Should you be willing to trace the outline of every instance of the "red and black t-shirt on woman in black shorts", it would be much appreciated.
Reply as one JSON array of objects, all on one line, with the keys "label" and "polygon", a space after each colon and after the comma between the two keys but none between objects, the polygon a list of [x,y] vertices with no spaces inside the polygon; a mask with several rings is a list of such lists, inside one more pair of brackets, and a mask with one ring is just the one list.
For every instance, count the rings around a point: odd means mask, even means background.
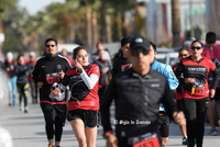
[{"label": "red and black t-shirt on woman in black shorts", "polygon": [[[99,67],[95,64],[89,65],[85,69],[85,71],[88,76],[97,75],[98,77],[100,77]],[[75,68],[72,68],[66,71],[62,83],[64,86],[68,84],[72,92],[72,98],[68,101],[68,111],[77,109],[94,111],[99,110],[99,81],[97,81],[95,87],[89,90],[82,81],[82,79],[80,78],[79,72]]]}]

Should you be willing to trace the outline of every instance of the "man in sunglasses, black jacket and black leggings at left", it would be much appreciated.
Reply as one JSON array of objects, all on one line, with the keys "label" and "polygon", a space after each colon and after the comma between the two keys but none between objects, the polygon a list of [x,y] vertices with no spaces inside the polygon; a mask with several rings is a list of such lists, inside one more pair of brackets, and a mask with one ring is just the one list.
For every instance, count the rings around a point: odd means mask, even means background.
[{"label": "man in sunglasses, black jacket and black leggings at left", "polygon": [[50,93],[54,82],[61,83],[66,70],[70,69],[70,64],[67,58],[57,54],[56,39],[47,38],[44,49],[46,56],[37,60],[32,75],[34,82],[40,89],[40,103],[44,113],[48,147],[53,147],[54,133],[55,146],[59,147],[63,126],[66,120],[67,102],[66,99],[63,101],[51,99]]}]

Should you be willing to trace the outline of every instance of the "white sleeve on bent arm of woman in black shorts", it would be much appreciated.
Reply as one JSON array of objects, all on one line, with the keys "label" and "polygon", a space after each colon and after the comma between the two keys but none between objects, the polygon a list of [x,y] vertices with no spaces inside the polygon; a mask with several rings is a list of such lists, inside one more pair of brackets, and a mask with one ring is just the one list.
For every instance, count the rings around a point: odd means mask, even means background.
[{"label": "white sleeve on bent arm of woman in black shorts", "polygon": [[92,70],[95,70],[95,72],[91,74],[90,76],[88,76],[85,70],[82,70],[82,72],[80,74],[80,77],[82,78],[88,89],[92,89],[99,80],[99,75],[100,75],[99,67],[97,66]]}]

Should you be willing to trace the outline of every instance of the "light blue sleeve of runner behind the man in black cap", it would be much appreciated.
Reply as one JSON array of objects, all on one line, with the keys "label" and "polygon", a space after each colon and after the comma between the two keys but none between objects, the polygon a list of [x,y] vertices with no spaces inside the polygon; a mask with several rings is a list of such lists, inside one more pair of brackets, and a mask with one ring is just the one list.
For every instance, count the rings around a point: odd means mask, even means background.
[{"label": "light blue sleeve of runner behind the man in black cap", "polygon": [[166,65],[164,72],[165,72],[165,76],[168,80],[168,84],[169,84],[170,90],[175,90],[178,87],[179,81],[176,78],[174,70],[172,69],[172,67],[169,65]]}]

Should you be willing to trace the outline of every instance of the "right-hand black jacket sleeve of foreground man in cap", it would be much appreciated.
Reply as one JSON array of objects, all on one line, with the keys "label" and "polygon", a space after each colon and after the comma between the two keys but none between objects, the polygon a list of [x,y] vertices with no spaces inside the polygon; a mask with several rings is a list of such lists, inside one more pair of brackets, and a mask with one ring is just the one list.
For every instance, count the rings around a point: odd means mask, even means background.
[{"label": "right-hand black jacket sleeve of foreground man in cap", "polygon": [[173,120],[173,113],[177,111],[176,106],[175,106],[175,101],[173,99],[173,93],[172,90],[168,87],[168,82],[166,81],[165,83],[165,92],[164,92],[164,97],[162,100],[162,103],[165,106],[165,110],[169,116],[169,118]]}]

